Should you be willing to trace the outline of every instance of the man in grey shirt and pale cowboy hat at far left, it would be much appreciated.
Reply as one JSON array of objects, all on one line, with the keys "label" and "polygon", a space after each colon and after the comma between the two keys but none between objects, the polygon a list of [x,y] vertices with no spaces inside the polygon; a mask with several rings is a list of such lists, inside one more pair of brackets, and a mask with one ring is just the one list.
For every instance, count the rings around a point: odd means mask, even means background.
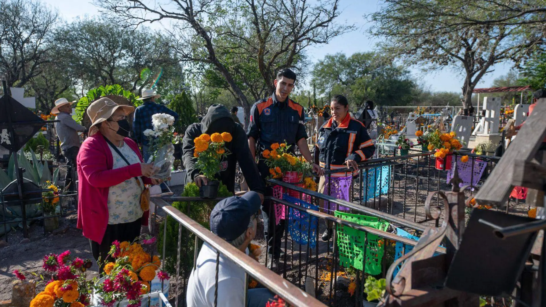
[{"label": "man in grey shirt and pale cowboy hat at far left", "polygon": [[84,132],[85,127],[77,123],[70,113],[72,113],[72,104],[67,98],[59,98],[55,101],[55,107],[51,109],[52,114],[57,115],[59,122],[55,123],[57,137],[61,141],[61,150],[67,162],[67,173],[64,176],[64,187],[69,191],[75,191],[75,185],[72,184],[72,173],[75,172],[76,156],[80,149],[80,138],[78,132]]}]

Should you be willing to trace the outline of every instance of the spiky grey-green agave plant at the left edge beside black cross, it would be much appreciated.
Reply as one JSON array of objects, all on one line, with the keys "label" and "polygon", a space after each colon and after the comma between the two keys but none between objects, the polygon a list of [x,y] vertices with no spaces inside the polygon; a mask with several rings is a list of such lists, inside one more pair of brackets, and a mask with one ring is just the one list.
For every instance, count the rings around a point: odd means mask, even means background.
[{"label": "spiky grey-green agave plant at the left edge beside black cross", "polygon": [[54,185],[57,184],[59,169],[56,168],[53,172],[53,176],[51,176],[51,173],[49,172],[48,161],[45,160],[44,163],[41,163],[36,158],[34,151],[32,149],[30,151],[32,156],[32,163],[27,160],[23,151],[21,151],[19,155],[14,152],[9,159],[7,172],[4,172],[4,170],[0,169],[0,190],[8,186],[10,182],[16,179],[15,158],[17,158],[17,162],[19,162],[19,167],[25,169],[25,173],[23,173],[23,178],[34,182],[34,184],[38,186],[45,184],[45,182],[48,180],[51,181]]}]

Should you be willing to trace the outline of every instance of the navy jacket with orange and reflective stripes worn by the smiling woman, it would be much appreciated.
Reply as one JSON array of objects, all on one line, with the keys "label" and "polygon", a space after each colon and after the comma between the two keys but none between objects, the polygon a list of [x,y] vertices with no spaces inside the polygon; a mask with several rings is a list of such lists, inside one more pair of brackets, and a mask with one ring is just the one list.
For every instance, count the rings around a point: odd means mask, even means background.
[{"label": "navy jacket with orange and reflective stripes worn by the smiling woman", "polygon": [[375,146],[366,127],[347,114],[339,125],[330,118],[318,131],[318,160],[325,169],[346,168],[347,160],[357,163],[373,156]]}]

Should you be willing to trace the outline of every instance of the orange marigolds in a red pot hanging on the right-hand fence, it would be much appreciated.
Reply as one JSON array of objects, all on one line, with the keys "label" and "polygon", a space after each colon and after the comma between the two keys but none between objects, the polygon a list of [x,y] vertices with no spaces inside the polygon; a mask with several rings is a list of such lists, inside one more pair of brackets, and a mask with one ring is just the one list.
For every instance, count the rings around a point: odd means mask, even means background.
[{"label": "orange marigolds in a red pot hanging on the right-hand fence", "polygon": [[455,138],[456,136],[457,134],[453,131],[440,133],[438,129],[430,134],[428,149],[436,150],[434,154],[434,157],[436,157],[436,169],[451,169],[453,151],[462,148],[462,144]]}]

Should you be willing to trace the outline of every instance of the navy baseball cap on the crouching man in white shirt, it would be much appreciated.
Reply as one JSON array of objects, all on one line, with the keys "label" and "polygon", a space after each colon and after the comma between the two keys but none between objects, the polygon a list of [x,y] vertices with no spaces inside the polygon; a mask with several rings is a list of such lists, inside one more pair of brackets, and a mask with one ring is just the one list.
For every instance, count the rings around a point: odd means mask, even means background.
[{"label": "navy baseball cap on the crouching man in white shirt", "polygon": [[210,230],[218,237],[232,241],[248,229],[251,217],[258,212],[262,200],[258,193],[250,191],[242,196],[220,200],[210,214]]}]

